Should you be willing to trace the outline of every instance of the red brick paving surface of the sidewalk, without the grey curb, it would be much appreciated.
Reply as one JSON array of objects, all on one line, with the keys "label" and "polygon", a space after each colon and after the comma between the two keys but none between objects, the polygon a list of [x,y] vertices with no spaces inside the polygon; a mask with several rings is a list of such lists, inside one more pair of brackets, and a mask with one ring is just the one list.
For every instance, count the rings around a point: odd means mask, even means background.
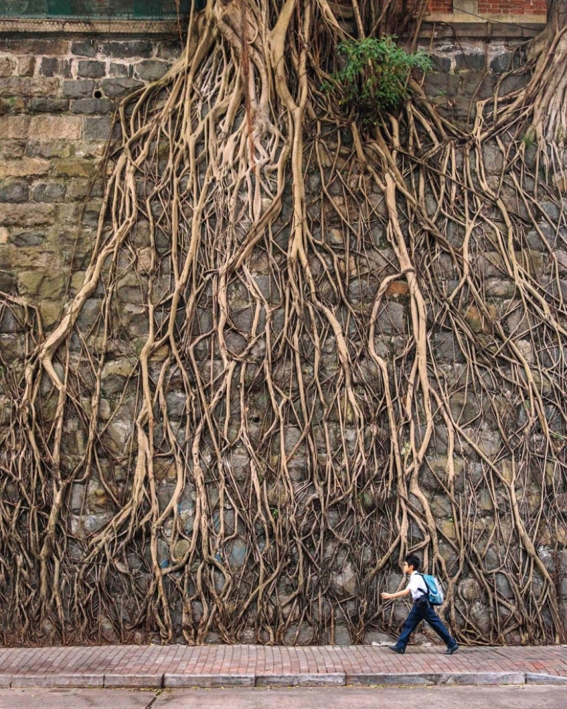
[{"label": "red brick paving surface of the sidewalk, without the grey curb", "polygon": [[[260,645],[103,645],[97,647],[0,648],[0,681],[26,676],[62,681],[108,676],[128,686],[133,676],[534,673],[567,677],[567,648],[461,647],[451,657],[441,646],[410,646],[397,655],[370,645],[265,647]],[[30,678],[31,679],[31,678]],[[347,677],[348,679],[348,677]],[[26,681],[27,678],[26,678]],[[124,685],[123,685],[124,686]]]}]

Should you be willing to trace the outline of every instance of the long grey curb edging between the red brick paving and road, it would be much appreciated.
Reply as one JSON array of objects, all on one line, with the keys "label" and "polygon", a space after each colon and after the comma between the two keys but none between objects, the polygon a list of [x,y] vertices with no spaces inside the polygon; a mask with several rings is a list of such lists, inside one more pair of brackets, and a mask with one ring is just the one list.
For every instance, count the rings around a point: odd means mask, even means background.
[{"label": "long grey curb edging between the red brick paving and road", "polygon": [[0,674],[0,688],[213,688],[342,686],[488,686],[564,684],[567,677],[532,672],[390,672],[289,674]]}]

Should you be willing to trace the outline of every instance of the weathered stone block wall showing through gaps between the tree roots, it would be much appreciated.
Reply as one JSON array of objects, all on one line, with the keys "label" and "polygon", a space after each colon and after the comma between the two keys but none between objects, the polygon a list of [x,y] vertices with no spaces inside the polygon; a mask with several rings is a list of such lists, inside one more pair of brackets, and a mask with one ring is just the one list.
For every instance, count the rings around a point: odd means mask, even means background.
[{"label": "weathered stone block wall showing through gaps between the tree roots", "polygon": [[[441,111],[460,121],[468,121],[472,116],[474,99],[485,98],[492,94],[499,77],[513,64],[520,61],[518,54],[519,44],[524,41],[521,37],[499,37],[487,42],[483,39],[463,39],[458,45],[448,40],[443,33],[434,38],[432,54],[435,70],[425,79],[428,94],[434,99]],[[99,208],[102,195],[102,178],[99,174],[101,157],[104,154],[107,140],[110,138],[111,120],[117,102],[128,95],[133,89],[141,87],[145,82],[158,79],[170,66],[180,53],[180,40],[175,36],[153,35],[148,37],[129,36],[104,36],[89,37],[87,35],[69,35],[61,33],[49,38],[22,38],[21,36],[4,36],[0,38],[0,290],[14,296],[24,296],[29,302],[34,303],[40,312],[45,328],[53,328],[57,323],[68,294],[72,294],[82,279],[82,269],[87,262],[92,235],[97,225]],[[423,47],[429,47],[429,40],[424,38]],[[506,79],[506,84],[501,87],[502,93],[511,89],[522,79]],[[502,156],[492,147],[489,147],[487,156],[488,165],[492,165],[493,172],[500,170]],[[312,194],[319,194],[321,182],[316,174],[309,176],[307,187]],[[89,199],[85,202],[87,196]],[[341,194],[330,190],[330,199],[340,203]],[[380,208],[380,195],[374,196],[377,213]],[[550,210],[553,206],[549,206]],[[285,197],[284,213],[291,210],[290,196]],[[547,230],[548,226],[542,222],[541,228]],[[375,237],[375,238],[374,238]],[[353,307],[375,294],[380,279],[392,273],[391,262],[394,260],[392,250],[385,244],[383,234],[377,227],[373,235],[372,247],[368,247],[368,263],[363,266],[364,277],[353,277],[348,289],[348,300]],[[452,238],[456,245],[462,239],[457,231]],[[347,237],[348,239],[348,237]],[[345,234],[341,228],[340,220],[329,220],[329,243],[334,247],[341,247]],[[546,275],[545,249],[536,232],[527,235],[529,245],[529,264],[535,278],[541,279]],[[138,255],[138,267],[143,269],[143,247]],[[558,248],[556,250],[559,268],[567,292],[567,252]],[[439,264],[439,277],[445,279],[447,284],[452,283],[453,272],[450,263]],[[486,294],[490,299],[490,307],[500,308],[506,313],[506,318],[514,318],[514,287],[510,281],[502,278],[501,264],[493,262],[490,257],[485,259],[484,265]],[[258,263],[255,278],[269,300],[272,291],[270,286],[270,269],[268,264]],[[136,294],[136,278],[125,277],[120,284],[121,306],[123,306],[123,333],[128,338],[128,344],[133,343],[136,349],[136,340],[143,337],[143,325],[138,322],[141,316],[141,303],[139,293]],[[407,328],[407,307],[404,298],[407,291],[404,284],[395,281],[387,291],[387,305],[380,312],[380,342],[385,351],[395,350],[403,341],[404,331]],[[251,307],[248,303],[238,301],[238,292],[231,294],[231,308],[238,313],[238,323],[241,330],[250,330]],[[96,311],[97,300],[93,298],[92,305]],[[82,323],[89,324],[89,302],[82,313]],[[93,312],[94,312],[93,311]],[[12,311],[3,311],[0,319],[0,345],[4,358],[9,364],[16,366],[21,361],[21,354],[26,347],[26,336],[20,320]],[[204,322],[208,314],[205,309],[200,313]],[[467,318],[475,332],[482,333],[483,318],[478,311],[468,311]],[[143,318],[139,318],[140,322]],[[235,320],[236,321],[236,320]],[[239,337],[239,335],[238,335]],[[238,337],[235,334],[233,349],[238,351]],[[456,418],[465,423],[470,423],[479,415],[485,416],[482,446],[485,454],[494,455],[500,449],[502,441],[497,432],[497,425],[490,417],[490,411],[483,408],[485,403],[473,399],[463,398],[457,391],[459,366],[462,362],[458,345],[451,334],[439,333],[434,337],[434,347],[439,362],[446,365],[447,377],[455,391],[451,396],[451,410]],[[529,342],[527,343],[529,347]],[[127,347],[116,345],[114,358],[105,364],[102,373],[101,415],[104,407],[111,411],[115,406],[120,408],[120,413],[109,424],[109,445],[119,453],[128,444],[133,426],[132,416],[128,418],[128,406],[135,397],[136,392],[128,391],[124,405],[119,399],[124,387],[128,383],[128,374],[131,371],[130,359],[123,351]],[[333,350],[333,347],[331,347]],[[528,353],[529,354],[529,353]],[[527,356],[528,356],[527,354]],[[532,355],[533,356],[533,353]],[[204,363],[207,352],[204,352]],[[363,363],[369,369],[369,362]],[[155,363],[156,372],[160,362]],[[324,354],[322,367],[336,367],[335,354]],[[368,372],[367,372],[368,374]],[[3,401],[4,399],[4,401]],[[3,416],[6,399],[0,399],[0,419]],[[261,396],[251,398],[249,402],[253,411],[260,417],[265,401]],[[166,405],[170,415],[175,420],[176,406],[182,411],[185,404],[184,396],[180,391],[171,391],[167,395]],[[502,406],[506,406],[502,401]],[[6,408],[6,407],[5,407]],[[117,409],[118,410],[118,409]],[[181,416],[181,413],[180,413]],[[4,423],[7,418],[4,415]],[[333,428],[334,427],[334,428]],[[331,422],[331,432],[338,440],[338,420]],[[288,427],[285,436],[286,450],[294,450],[299,442],[298,429]],[[66,433],[72,437],[70,428]],[[74,443],[66,441],[68,454],[80,454],[80,441],[75,437]],[[424,472],[423,486],[429,496],[431,508],[440,520],[446,541],[441,542],[441,552],[446,558],[448,566],[456,564],[457,554],[455,545],[457,540],[456,528],[452,520],[451,504],[439,484],[439,477],[444,474],[447,460],[444,456],[444,442],[441,441],[439,450],[432,445],[429,457],[429,470]],[[277,450],[276,450],[277,452]],[[297,454],[290,464],[290,471],[297,476],[298,484],[303,481],[302,474],[306,467],[307,451],[304,447],[297,448]],[[232,452],[231,465],[236,479],[245,479],[246,470],[250,460],[246,451],[235,450]],[[171,474],[171,462],[165,459],[160,463],[160,485],[158,497],[160,502],[167,504],[167,500],[175,487],[174,477]],[[168,465],[170,467],[168,467]],[[458,491],[465,493],[467,486],[477,485],[482,469],[471,455],[466,446],[457,447],[454,459]],[[503,475],[510,474],[506,465],[502,466]],[[127,474],[121,471],[123,480]],[[553,476],[554,471],[549,471]],[[535,489],[534,489],[535,490]],[[536,504],[537,496],[534,493]],[[561,487],[562,490],[562,487]],[[190,491],[189,491],[190,492]],[[180,514],[184,515],[186,529],[192,527],[194,519],[194,501],[190,493],[184,496]],[[492,515],[494,512],[494,498],[489,491],[483,493],[482,505],[478,510],[478,525],[486,528],[488,532],[493,529]],[[531,500],[531,498],[530,498]],[[70,498],[70,514],[72,529],[77,533],[77,538],[84,537],[90,532],[100,529],[111,518],[112,505],[107,491],[97,479],[85,486],[75,484]],[[492,524],[492,527],[490,525]],[[546,532],[548,537],[541,539],[543,545],[566,545],[567,538],[563,527],[556,527]],[[178,542],[182,544],[183,540]],[[183,542],[185,543],[185,542]],[[167,545],[162,543],[160,549],[160,562],[167,564]],[[177,549],[178,555],[183,554],[183,549]],[[334,588],[334,593],[340,598],[348,598],[355,591],[358,568],[346,554],[335,554],[335,547],[329,545],[326,549],[326,559],[329,568],[329,583]],[[79,549],[70,548],[70,556],[80,554]],[[248,553],[245,542],[237,539],[231,546],[229,562],[235,568],[243,564],[243,559]],[[493,554],[493,568],[497,566],[497,556]],[[549,563],[556,564],[556,559]],[[363,558],[360,563],[369,568],[372,557]],[[136,564],[134,559],[133,564]],[[567,557],[563,552],[560,564],[566,566]],[[392,576],[390,585],[395,588],[400,581],[400,576]],[[510,588],[507,588],[506,579],[496,574],[495,583],[500,584],[500,591],[507,597],[513,598]],[[285,589],[284,589],[285,590]],[[563,579],[561,586],[563,596],[567,598],[567,581]],[[283,593],[283,591],[282,591]],[[464,600],[470,604],[471,614],[479,627],[489,623],[488,613],[480,603],[481,589],[472,576],[463,579],[461,593]],[[348,605],[351,603],[351,605]],[[332,635],[321,634],[317,642],[333,642],[346,644],[353,641],[345,622],[345,614],[356,613],[351,601],[344,601],[341,612],[336,617],[336,627]],[[396,611],[400,615],[400,609]],[[563,608],[565,612],[565,608]],[[403,613],[403,610],[402,610]],[[399,618],[398,618],[399,620]],[[106,621],[104,621],[106,623]],[[103,625],[104,625],[103,623]],[[176,618],[177,625],[180,617]],[[45,631],[48,632],[47,630]],[[295,634],[297,632],[297,637]],[[326,631],[325,631],[326,632]],[[103,637],[106,640],[120,640],[116,636],[110,622],[104,628]],[[286,635],[286,641],[310,642],[312,635],[309,628],[300,625],[292,626]],[[370,632],[364,638],[370,640],[384,640],[379,632]],[[135,636],[131,640],[140,642],[143,637]],[[218,642],[219,637],[211,632],[209,642]],[[507,638],[508,642],[519,642],[517,634]]]}]

